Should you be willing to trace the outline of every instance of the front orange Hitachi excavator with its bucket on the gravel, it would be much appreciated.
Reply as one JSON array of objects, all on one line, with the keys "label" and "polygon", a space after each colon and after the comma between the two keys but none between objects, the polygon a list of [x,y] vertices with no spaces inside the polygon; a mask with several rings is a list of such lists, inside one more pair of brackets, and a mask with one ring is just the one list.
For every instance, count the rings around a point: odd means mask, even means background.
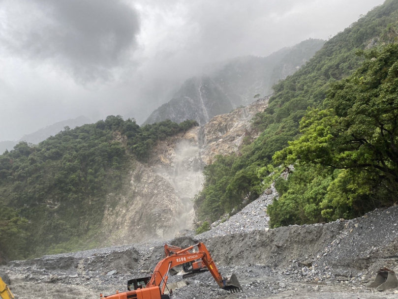
[{"label": "front orange Hitachi excavator with its bucket on the gravel", "polygon": [[[195,247],[197,247],[197,251],[190,252],[190,250]],[[242,291],[242,287],[235,274],[228,277],[222,277],[221,273],[215,266],[209,250],[207,250],[205,244],[202,242],[177,251],[171,255],[169,254],[170,253],[166,253],[168,256],[156,265],[152,276],[130,279],[127,282],[128,292],[117,292],[116,294],[109,296],[102,296],[102,294],[100,294],[100,299],[170,299],[172,290],[169,290],[170,295],[164,294],[165,288],[167,287],[167,279],[170,269],[199,259],[202,260],[203,264],[207,269],[209,269],[210,273],[212,273],[215,281],[221,289],[231,291],[231,293]]]}]

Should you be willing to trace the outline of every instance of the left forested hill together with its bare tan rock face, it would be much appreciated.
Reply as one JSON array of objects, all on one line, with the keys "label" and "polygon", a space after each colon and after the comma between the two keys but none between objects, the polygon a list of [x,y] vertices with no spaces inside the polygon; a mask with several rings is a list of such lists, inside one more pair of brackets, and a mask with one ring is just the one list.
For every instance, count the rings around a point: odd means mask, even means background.
[{"label": "left forested hill together with its bare tan rock face", "polygon": [[[125,225],[129,238],[168,236],[183,203],[171,184],[147,165],[157,143],[195,125],[192,120],[167,120],[140,127],[135,120],[109,116],[66,127],[37,145],[20,142],[4,152],[0,255],[16,259],[116,242]],[[115,215],[115,209],[130,199],[134,205],[124,209],[140,217]],[[106,223],[117,226],[102,230],[102,221],[111,215]],[[142,235],[131,234],[138,229]]]}]

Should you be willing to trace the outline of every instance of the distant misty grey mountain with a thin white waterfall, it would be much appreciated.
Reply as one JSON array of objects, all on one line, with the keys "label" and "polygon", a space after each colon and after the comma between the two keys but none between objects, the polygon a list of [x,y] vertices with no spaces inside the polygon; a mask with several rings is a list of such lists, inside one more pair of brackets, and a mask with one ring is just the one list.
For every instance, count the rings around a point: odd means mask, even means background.
[{"label": "distant misty grey mountain with a thin white waterfall", "polygon": [[188,79],[174,98],[153,111],[145,123],[189,119],[203,125],[216,115],[250,104],[257,93],[270,94],[273,84],[293,74],[323,44],[323,40],[308,39],[268,57],[236,58],[213,74]]}]

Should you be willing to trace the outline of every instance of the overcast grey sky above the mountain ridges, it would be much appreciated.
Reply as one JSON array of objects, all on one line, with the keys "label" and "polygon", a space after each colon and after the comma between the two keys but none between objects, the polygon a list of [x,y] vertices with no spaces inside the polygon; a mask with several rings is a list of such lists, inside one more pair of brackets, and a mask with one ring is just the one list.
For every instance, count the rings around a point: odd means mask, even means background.
[{"label": "overcast grey sky above the mountain ridges", "polygon": [[142,123],[213,62],[328,39],[383,0],[0,0],[0,141]]}]

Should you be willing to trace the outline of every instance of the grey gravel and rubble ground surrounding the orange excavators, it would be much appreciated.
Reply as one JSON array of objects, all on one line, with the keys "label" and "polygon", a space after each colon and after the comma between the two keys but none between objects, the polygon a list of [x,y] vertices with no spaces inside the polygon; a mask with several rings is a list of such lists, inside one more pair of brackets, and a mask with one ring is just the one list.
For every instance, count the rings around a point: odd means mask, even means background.
[{"label": "grey gravel and rubble ground surrounding the orange excavators", "polygon": [[[96,298],[126,290],[132,277],[147,276],[164,256],[165,242],[185,247],[201,240],[223,275],[235,273],[244,292],[218,289],[209,272],[169,283],[184,285],[174,299],[199,298],[398,298],[366,285],[380,267],[398,270],[398,207],[328,224],[268,229],[264,194],[211,231],[153,241],[13,261],[0,268],[18,299]],[[181,286],[181,285],[180,285]]]}]

